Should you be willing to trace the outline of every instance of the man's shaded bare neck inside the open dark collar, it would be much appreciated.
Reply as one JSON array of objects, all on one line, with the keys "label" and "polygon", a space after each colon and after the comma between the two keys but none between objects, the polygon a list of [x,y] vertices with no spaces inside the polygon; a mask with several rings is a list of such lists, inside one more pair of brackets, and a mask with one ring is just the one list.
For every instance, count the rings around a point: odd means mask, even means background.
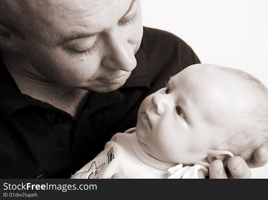
[{"label": "man's shaded bare neck inside the open dark collar", "polygon": [[38,72],[23,56],[2,54],[3,61],[21,93],[78,117],[89,91],[63,86]]}]

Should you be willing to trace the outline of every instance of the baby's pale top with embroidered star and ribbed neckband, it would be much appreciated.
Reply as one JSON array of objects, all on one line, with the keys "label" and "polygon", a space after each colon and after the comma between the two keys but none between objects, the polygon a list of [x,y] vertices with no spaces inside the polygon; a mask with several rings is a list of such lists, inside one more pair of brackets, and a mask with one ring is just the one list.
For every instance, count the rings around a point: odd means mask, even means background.
[{"label": "baby's pale top with embroidered star and ribbed neckband", "polygon": [[115,134],[104,150],[71,178],[111,178],[115,173],[126,178],[198,178],[198,171],[203,177],[208,175],[202,165],[183,167],[153,158],[140,148],[135,128],[131,128]]}]

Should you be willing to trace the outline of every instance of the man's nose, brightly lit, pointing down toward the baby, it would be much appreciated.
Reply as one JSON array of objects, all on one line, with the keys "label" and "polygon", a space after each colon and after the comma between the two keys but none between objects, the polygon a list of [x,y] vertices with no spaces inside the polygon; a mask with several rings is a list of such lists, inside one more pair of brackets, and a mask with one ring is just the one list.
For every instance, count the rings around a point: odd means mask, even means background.
[{"label": "man's nose, brightly lit, pointing down toward the baby", "polygon": [[136,65],[133,44],[129,44],[126,36],[120,29],[112,30],[107,38],[106,55],[102,63],[106,68],[132,71]]}]

